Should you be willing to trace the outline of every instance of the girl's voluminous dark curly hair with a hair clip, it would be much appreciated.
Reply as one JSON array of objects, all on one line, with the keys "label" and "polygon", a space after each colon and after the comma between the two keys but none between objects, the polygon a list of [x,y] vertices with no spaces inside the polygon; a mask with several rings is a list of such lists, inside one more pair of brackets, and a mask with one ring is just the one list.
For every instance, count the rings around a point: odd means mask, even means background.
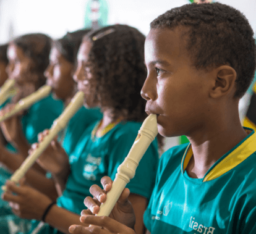
[{"label": "girl's voluminous dark curly hair with a hair clip", "polygon": [[[122,114],[127,121],[142,122],[147,117],[146,101],[140,96],[147,78],[145,36],[136,28],[112,25],[91,31],[83,40],[92,43],[88,63],[92,64],[101,106],[111,107],[113,117]],[[160,148],[162,139],[158,140]]]}]

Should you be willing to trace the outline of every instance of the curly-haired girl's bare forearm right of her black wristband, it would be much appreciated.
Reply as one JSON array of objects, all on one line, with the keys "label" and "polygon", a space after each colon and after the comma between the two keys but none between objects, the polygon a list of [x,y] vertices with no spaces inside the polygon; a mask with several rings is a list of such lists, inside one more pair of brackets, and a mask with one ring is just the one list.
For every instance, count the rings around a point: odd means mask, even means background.
[{"label": "curly-haired girl's bare forearm right of her black wristband", "polygon": [[83,225],[80,222],[80,215],[74,214],[66,209],[54,205],[46,215],[46,222],[63,233],[69,233],[69,227],[73,224]]}]

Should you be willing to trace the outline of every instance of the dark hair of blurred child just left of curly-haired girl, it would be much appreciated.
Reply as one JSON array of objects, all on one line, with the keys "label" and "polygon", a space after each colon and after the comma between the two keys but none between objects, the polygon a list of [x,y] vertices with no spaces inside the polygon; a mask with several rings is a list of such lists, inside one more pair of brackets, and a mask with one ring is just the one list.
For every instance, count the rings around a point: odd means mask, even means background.
[{"label": "dark hair of blurred child just left of curly-haired girl", "polygon": [[59,40],[53,41],[53,46],[55,46],[59,52],[61,52],[64,58],[75,64],[77,60],[77,52],[79,51],[79,46],[82,42],[83,36],[88,33],[90,29],[85,28],[77,31],[68,32],[65,36]]}]

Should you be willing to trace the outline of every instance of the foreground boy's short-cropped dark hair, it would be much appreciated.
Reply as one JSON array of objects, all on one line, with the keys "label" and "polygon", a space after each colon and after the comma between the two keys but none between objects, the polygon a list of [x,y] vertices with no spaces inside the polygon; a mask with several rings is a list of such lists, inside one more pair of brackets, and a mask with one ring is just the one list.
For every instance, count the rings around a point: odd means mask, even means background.
[{"label": "foreground boy's short-cropped dark hair", "polygon": [[186,27],[186,49],[192,65],[208,70],[228,64],[236,70],[236,92],[241,98],[254,78],[254,31],[245,16],[219,2],[186,4],[168,10],[150,23],[152,29]]}]

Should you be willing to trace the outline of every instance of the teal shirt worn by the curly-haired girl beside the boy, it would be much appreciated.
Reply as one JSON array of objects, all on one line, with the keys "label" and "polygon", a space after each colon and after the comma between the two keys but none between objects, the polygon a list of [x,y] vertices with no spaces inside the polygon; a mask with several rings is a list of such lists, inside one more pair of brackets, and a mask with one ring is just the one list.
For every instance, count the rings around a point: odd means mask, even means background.
[{"label": "teal shirt worn by the curly-haired girl beside the boy", "polygon": [[[91,196],[90,186],[94,184],[101,186],[100,180],[105,175],[114,180],[117,167],[129,153],[142,123],[119,123],[106,135],[92,141],[91,133],[95,125],[96,122],[85,130],[70,155],[71,173],[66,190],[57,203],[58,206],[77,214],[85,209],[83,200],[86,196]],[[157,164],[158,145],[155,140],[143,156],[135,177],[127,185],[131,193],[150,198]]]}]

